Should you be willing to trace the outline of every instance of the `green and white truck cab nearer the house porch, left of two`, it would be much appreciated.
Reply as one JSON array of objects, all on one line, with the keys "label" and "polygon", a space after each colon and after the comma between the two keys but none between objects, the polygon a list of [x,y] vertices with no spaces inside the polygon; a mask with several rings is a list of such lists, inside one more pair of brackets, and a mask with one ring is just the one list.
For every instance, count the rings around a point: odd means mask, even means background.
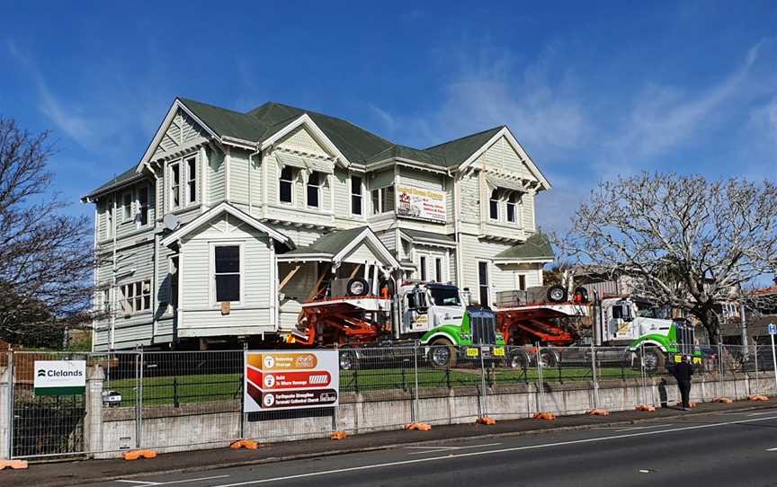
[{"label": "green and white truck cab nearer the house porch, left of two", "polygon": [[400,334],[420,335],[433,367],[453,367],[458,359],[504,358],[505,338],[496,316],[486,308],[467,307],[459,288],[414,283],[398,289]]}]

